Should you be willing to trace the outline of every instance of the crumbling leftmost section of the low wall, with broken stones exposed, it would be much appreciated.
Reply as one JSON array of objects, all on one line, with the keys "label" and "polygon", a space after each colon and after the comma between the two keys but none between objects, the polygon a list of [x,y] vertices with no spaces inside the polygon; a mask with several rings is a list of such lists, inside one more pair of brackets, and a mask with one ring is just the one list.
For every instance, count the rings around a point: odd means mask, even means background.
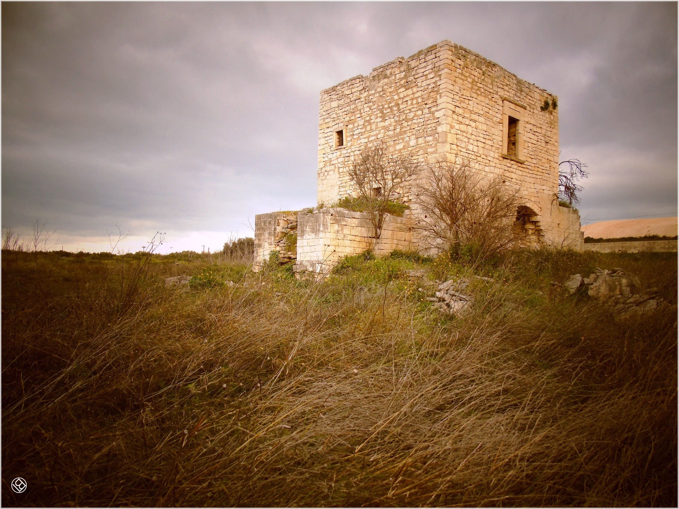
[{"label": "crumbling leftmost section of the low wall, with broken stones exposed", "polygon": [[[259,271],[272,251],[278,251],[280,263],[297,259],[295,246],[289,245],[291,233],[297,231],[297,212],[270,212],[255,216],[255,256],[253,270]],[[294,242],[294,236],[292,236]]]}]

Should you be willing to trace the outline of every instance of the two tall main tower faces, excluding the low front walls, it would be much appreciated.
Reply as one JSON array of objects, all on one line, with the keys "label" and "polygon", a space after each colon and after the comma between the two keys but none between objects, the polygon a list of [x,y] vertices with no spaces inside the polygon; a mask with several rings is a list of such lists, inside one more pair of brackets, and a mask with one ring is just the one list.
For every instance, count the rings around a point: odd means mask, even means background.
[{"label": "two tall main tower faces, excluding the low front walls", "polygon": [[[509,117],[519,119],[515,130]],[[557,97],[460,45],[441,41],[323,90],[318,128],[319,204],[354,192],[348,168],[361,149],[382,140],[423,163],[469,159],[475,170],[518,189],[545,231],[563,229],[552,225],[563,216],[553,207]],[[411,188],[402,190],[403,200],[417,221]]]}]

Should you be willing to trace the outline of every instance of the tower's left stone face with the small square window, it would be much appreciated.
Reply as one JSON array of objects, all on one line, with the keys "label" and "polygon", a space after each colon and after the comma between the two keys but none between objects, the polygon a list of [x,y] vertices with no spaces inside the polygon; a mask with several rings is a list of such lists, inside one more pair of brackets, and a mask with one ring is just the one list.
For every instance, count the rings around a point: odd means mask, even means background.
[{"label": "tower's left stone face with the small square window", "polygon": [[[424,162],[437,151],[439,86],[447,72],[443,50],[399,57],[320,92],[318,121],[318,204],[352,192],[346,174],[361,149],[375,140],[390,143]],[[443,97],[441,97],[443,100]],[[335,133],[344,131],[344,145]],[[408,196],[405,196],[407,200]]]}]

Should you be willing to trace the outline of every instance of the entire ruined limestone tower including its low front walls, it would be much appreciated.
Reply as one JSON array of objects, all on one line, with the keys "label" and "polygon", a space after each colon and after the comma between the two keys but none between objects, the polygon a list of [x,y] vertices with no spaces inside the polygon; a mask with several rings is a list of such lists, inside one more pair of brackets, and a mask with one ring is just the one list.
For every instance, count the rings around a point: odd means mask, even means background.
[{"label": "entire ruined limestone tower including its low front walls", "polygon": [[412,228],[418,221],[412,185],[401,195],[411,209],[403,218],[388,216],[375,245],[365,214],[332,208],[354,193],[348,169],[376,141],[422,164],[462,157],[500,176],[521,197],[517,223],[526,235],[536,244],[582,250],[579,214],[559,206],[558,126],[556,96],[449,41],[342,81],[320,92],[321,208],[259,214],[255,269],[274,250],[297,271],[313,272],[367,248],[422,250]]}]

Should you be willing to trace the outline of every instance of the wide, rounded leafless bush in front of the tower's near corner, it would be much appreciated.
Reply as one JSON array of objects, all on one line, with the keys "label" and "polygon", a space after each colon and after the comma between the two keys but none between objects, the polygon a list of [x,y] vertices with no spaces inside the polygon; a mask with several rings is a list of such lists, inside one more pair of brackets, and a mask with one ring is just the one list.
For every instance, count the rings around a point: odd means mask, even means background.
[{"label": "wide, rounded leafless bush in front of the tower's near corner", "polygon": [[515,221],[520,201],[498,176],[479,176],[468,160],[426,166],[416,186],[416,228],[431,247],[459,255],[465,245],[483,257],[521,244]]}]

